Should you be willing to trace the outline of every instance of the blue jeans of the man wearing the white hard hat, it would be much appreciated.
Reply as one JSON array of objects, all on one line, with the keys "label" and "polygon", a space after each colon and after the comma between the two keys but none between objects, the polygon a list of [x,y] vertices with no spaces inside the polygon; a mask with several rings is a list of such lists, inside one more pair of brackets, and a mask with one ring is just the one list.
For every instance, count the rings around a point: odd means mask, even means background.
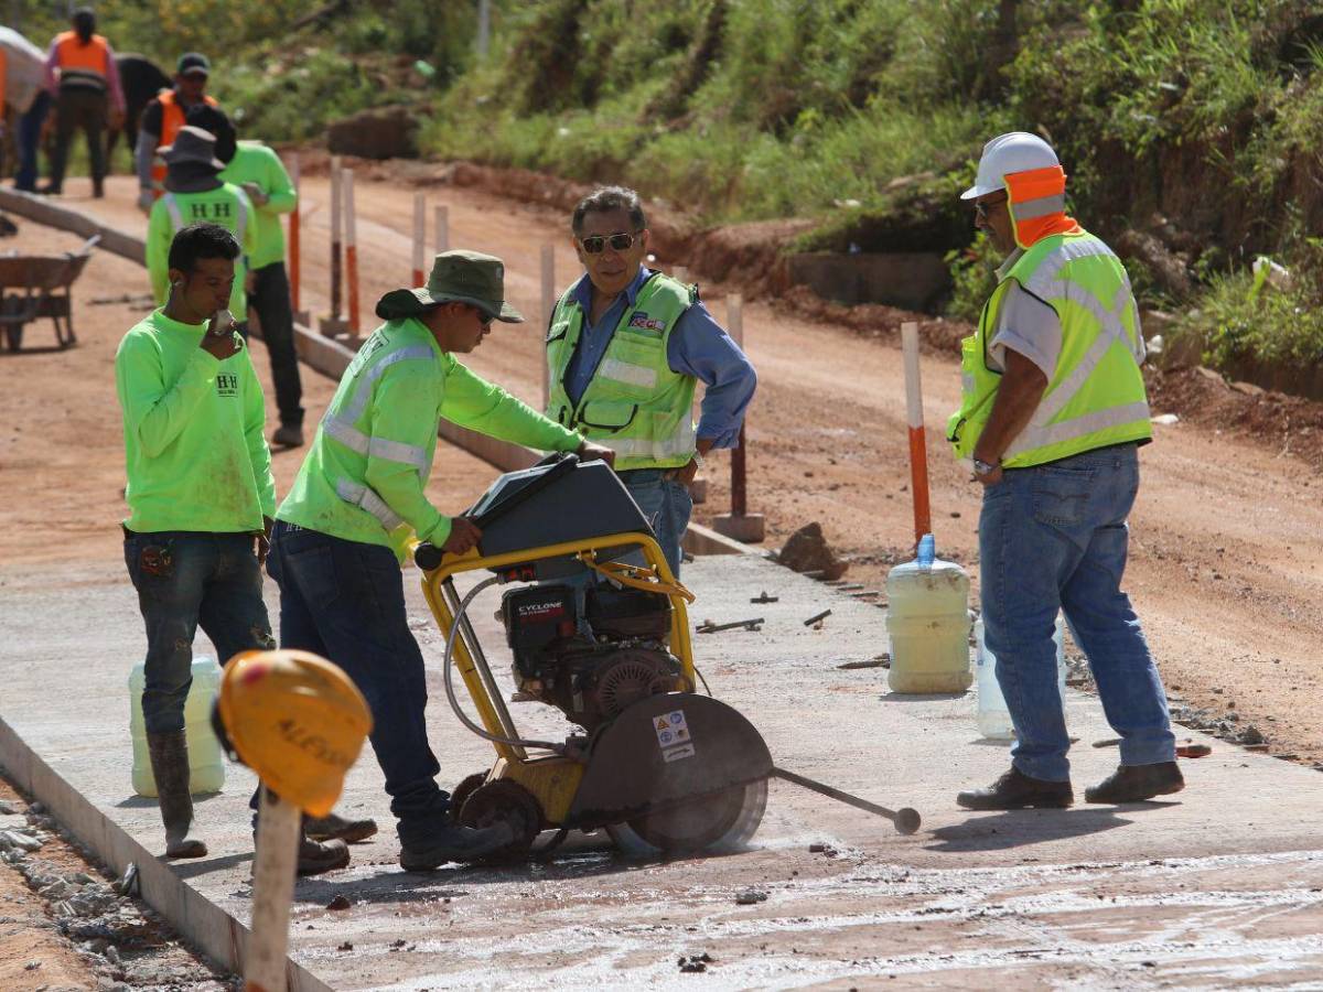
[{"label": "blue jeans of the man wearing the white hard hat", "polygon": [[1031,778],[1070,778],[1052,641],[1058,610],[1121,735],[1121,763],[1176,758],[1158,667],[1121,591],[1126,517],[1138,491],[1138,451],[1126,444],[1009,470],[983,493],[984,634],[1015,723],[1012,763]]}]

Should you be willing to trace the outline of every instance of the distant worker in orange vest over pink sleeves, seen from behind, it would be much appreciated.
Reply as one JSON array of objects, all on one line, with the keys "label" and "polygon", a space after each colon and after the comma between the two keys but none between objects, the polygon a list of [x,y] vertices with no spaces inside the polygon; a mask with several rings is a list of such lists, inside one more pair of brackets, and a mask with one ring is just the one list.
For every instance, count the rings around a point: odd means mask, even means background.
[{"label": "distant worker in orange vest over pink sleeves, seen from behind", "polygon": [[86,7],[74,11],[73,30],[61,32],[46,54],[46,89],[56,98],[56,148],[50,181],[41,190],[58,196],[74,130],[87,135],[93,196],[103,196],[106,180],[106,124],[111,114],[124,115],[124,91],[110,42],[97,34],[97,16]]}]

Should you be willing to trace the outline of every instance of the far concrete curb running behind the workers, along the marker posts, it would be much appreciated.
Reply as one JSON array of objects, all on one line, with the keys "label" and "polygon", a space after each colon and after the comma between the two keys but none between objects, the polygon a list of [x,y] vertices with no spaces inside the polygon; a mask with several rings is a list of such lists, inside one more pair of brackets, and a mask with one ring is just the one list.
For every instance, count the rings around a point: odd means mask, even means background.
[{"label": "far concrete curb running behind the workers, along the marker posts", "polygon": [[[139,265],[143,265],[143,259],[147,257],[147,245],[142,238],[99,224],[32,193],[0,189],[0,209],[26,217],[37,224],[45,224],[49,227],[73,231],[85,238],[99,234],[99,247]],[[257,336],[261,337],[261,335]],[[340,341],[324,337],[298,323],[294,325],[294,347],[304,365],[333,380],[339,380],[344,374],[355,354]],[[437,433],[451,444],[476,455],[503,472],[528,468],[541,458],[538,452],[525,448],[523,444],[488,438],[486,434],[448,421],[442,421]],[[701,524],[689,524],[684,536],[684,550],[689,554],[759,554],[757,548],[740,544]]]}]

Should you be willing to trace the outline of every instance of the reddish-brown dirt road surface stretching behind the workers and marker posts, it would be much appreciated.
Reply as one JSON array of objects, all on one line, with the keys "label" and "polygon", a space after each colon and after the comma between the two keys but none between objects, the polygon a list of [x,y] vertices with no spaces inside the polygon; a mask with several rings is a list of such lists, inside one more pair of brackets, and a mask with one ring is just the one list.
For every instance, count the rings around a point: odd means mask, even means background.
[{"label": "reddish-brown dirt road surface stretching behind the workers and marker posts", "polygon": [[[127,230],[142,230],[128,183],[115,179],[105,201],[70,181],[66,202]],[[376,298],[409,280],[413,189],[357,184],[364,323]],[[328,291],[328,184],[304,183],[304,306],[325,311]],[[472,366],[525,399],[540,398],[538,253],[556,245],[558,283],[578,274],[560,213],[471,189],[431,188],[450,210],[450,243],[501,255],[508,292],[531,325],[497,325]],[[24,245],[56,235],[25,225]],[[58,241],[58,238],[56,238]],[[683,263],[684,259],[662,259]],[[5,558],[62,559],[82,541],[106,536],[119,512],[122,451],[108,368],[123,328],[142,306],[94,307],[97,296],[146,287],[140,269],[114,258],[90,266],[75,294],[86,344],[67,356],[0,360],[0,458],[7,491],[21,499],[0,509]],[[706,292],[724,316],[720,287]],[[32,337],[40,337],[32,331]],[[904,378],[900,352],[852,332],[804,321],[759,302],[745,307],[746,347],[759,370],[749,418],[750,509],[763,512],[769,546],[812,520],[855,558],[851,578],[878,585],[886,565],[910,542]],[[263,361],[258,361],[265,366]],[[21,372],[20,372],[21,369]],[[265,368],[263,368],[265,372]],[[310,418],[320,414],[331,384],[306,373]],[[958,471],[939,429],[958,397],[955,362],[923,360],[925,415],[930,425],[934,529],[938,548],[978,573],[979,493]],[[1129,587],[1159,657],[1168,690],[1191,706],[1254,723],[1274,751],[1323,761],[1320,668],[1323,634],[1323,480],[1275,448],[1187,423],[1159,426],[1142,455],[1143,488],[1134,513]],[[52,442],[60,442],[52,444]],[[487,470],[455,455],[438,466],[434,487],[462,503]],[[278,483],[288,484],[298,452],[277,456]],[[700,518],[724,509],[725,458],[714,459],[712,495]],[[452,501],[450,505],[456,505]],[[89,512],[90,505],[95,512]],[[50,507],[61,508],[53,517]],[[78,512],[67,508],[78,507]]]}]

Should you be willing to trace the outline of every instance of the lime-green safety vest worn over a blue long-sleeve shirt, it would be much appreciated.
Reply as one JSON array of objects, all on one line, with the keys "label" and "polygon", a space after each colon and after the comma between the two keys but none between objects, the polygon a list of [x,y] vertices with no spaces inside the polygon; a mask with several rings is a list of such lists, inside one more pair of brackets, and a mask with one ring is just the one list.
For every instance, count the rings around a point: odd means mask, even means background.
[{"label": "lime-green safety vest worn over a blue long-sleeve shirt", "polygon": [[546,339],[546,415],[615,451],[617,471],[673,468],[693,456],[695,380],[671,369],[667,349],[696,298],[684,283],[652,274],[615,325],[577,405],[565,390],[565,376],[585,313],[572,292],[556,304]]}]

